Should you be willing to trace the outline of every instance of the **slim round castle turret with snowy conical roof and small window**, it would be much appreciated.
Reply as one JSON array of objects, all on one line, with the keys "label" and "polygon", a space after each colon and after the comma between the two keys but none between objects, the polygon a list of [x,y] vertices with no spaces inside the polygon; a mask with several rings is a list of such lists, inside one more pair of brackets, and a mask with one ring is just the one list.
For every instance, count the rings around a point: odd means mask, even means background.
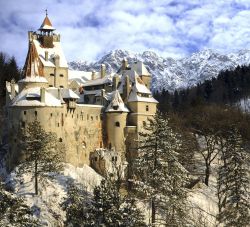
[{"label": "slim round castle turret with snowy conical roof and small window", "polygon": [[129,110],[123,103],[118,90],[114,91],[112,95],[112,100],[105,111],[108,147],[123,153],[125,152],[124,129]]}]

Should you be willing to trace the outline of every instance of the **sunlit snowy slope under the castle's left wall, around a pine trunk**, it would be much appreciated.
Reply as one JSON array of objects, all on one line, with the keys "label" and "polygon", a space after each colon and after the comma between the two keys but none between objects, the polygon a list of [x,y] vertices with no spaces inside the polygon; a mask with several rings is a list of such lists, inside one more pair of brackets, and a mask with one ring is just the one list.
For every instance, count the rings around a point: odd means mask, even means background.
[{"label": "sunlit snowy slope under the castle's left wall, around a pine trunk", "polygon": [[62,210],[61,203],[66,198],[67,184],[70,181],[81,183],[92,192],[101,179],[102,177],[87,165],[78,168],[65,164],[62,174],[53,175],[39,182],[38,196],[34,193],[34,181],[30,174],[17,176],[15,172],[12,172],[7,182],[14,192],[32,208],[34,215],[42,221],[42,224],[52,227],[64,226],[65,212]]}]

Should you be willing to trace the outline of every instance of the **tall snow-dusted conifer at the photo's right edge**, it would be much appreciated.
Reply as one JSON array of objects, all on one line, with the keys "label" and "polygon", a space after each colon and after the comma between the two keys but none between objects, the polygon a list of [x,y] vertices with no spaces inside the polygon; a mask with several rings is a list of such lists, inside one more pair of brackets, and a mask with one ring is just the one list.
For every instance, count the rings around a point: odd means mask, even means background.
[{"label": "tall snow-dusted conifer at the photo's right edge", "polygon": [[244,227],[250,223],[249,205],[249,153],[237,130],[232,130],[222,154],[223,165],[219,169],[218,220],[225,226]]}]

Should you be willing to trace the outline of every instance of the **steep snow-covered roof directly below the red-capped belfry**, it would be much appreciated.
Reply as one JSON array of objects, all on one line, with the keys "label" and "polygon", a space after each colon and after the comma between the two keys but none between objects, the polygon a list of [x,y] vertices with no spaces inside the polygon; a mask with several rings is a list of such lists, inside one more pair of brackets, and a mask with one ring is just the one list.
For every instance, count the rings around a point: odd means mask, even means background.
[{"label": "steep snow-covered roof directly below the red-capped belfry", "polygon": [[[54,58],[59,56],[59,66],[68,68],[68,63],[64,56],[61,43],[60,42],[53,42],[53,48],[44,48],[40,45],[38,40],[33,40],[39,58],[44,66],[47,67],[56,67],[54,63]],[[48,61],[45,60],[45,51],[48,51]]]}]

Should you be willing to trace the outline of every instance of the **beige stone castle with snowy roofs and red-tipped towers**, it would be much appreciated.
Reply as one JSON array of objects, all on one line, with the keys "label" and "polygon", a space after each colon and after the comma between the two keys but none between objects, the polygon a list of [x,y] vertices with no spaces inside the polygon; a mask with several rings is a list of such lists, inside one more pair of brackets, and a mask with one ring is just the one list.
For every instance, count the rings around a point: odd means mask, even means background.
[{"label": "beige stone castle with snowy roofs and red-tipped towers", "polygon": [[108,160],[124,161],[126,152],[133,155],[139,132],[154,116],[151,75],[142,62],[129,65],[126,59],[111,75],[105,65],[100,72],[69,70],[54,31],[46,13],[39,30],[28,32],[22,79],[6,83],[8,168],[20,161],[19,130],[38,120],[65,144],[66,162],[101,171]]}]

